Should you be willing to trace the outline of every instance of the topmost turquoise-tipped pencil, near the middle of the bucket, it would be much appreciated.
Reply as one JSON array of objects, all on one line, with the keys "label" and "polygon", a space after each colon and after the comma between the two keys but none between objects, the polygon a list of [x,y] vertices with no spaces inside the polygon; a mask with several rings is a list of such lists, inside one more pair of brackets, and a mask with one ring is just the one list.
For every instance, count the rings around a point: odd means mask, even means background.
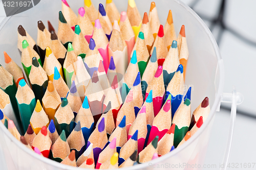
[{"label": "topmost turquoise-tipped pencil, near the middle of the bucket", "polygon": [[123,85],[122,85],[122,101],[124,102],[126,95],[129,93],[130,89],[133,87],[133,83],[139,72],[137,54],[136,50],[133,51],[133,57],[125,71],[123,76]]}]

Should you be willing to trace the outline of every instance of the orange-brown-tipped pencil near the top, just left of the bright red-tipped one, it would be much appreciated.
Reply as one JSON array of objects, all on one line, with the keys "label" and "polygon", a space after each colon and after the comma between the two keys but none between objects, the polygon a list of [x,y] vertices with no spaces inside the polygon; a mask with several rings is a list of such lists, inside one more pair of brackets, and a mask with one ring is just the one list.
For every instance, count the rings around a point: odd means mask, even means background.
[{"label": "orange-brown-tipped pencil near the top, just left of the bright red-tipped one", "polygon": [[143,19],[142,19],[142,25],[140,27],[140,32],[144,33],[145,43],[147,47],[148,53],[151,52],[153,43],[155,41],[155,38],[153,36],[150,22],[148,21],[147,13],[144,13]]}]

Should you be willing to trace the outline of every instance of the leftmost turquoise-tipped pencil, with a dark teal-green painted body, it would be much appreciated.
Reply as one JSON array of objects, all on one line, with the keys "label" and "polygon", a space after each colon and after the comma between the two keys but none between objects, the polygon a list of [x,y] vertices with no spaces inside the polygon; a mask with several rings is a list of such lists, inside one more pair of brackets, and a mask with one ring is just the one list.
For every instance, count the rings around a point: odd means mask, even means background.
[{"label": "leftmost turquoise-tipped pencil, with a dark teal-green painted body", "polygon": [[28,129],[30,117],[34,111],[36,101],[35,95],[24,79],[18,83],[16,100],[20,118],[22,119],[22,127],[24,132]]}]

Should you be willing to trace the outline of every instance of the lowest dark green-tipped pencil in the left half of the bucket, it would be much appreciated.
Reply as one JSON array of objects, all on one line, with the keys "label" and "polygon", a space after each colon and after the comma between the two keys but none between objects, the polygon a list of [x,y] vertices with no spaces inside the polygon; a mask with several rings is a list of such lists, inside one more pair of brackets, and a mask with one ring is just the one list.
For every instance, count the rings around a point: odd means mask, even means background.
[{"label": "lowest dark green-tipped pencil in the left half of the bucket", "polygon": [[61,162],[70,154],[69,143],[67,141],[65,130],[62,130],[61,134],[57,138],[54,144],[52,144],[49,158],[57,162]]}]

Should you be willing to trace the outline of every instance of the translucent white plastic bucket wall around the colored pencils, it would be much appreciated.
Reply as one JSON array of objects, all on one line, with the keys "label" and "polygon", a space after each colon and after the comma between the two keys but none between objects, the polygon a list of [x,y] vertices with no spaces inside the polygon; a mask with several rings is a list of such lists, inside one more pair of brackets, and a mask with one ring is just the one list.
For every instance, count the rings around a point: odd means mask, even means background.
[{"label": "translucent white plastic bucket wall around the colored pencils", "polygon": [[[99,3],[105,5],[103,0],[92,2],[96,8]],[[114,0],[114,2],[120,12],[126,11],[127,0]],[[76,13],[78,8],[83,6],[82,0],[70,0],[68,3]],[[173,12],[177,35],[181,26],[185,25],[189,50],[185,84],[187,88],[192,86],[191,111],[194,111],[205,96],[208,96],[211,112],[199,131],[181,147],[151,162],[127,169],[153,169],[153,164],[166,165],[161,169],[170,169],[172,164],[176,165],[175,169],[184,169],[177,165],[202,164],[204,161],[214,115],[219,110],[223,90],[223,63],[212,34],[193,10],[179,1],[158,0],[155,3],[162,25],[165,25],[169,10]],[[143,16],[144,12],[150,10],[151,1],[137,0],[136,4]],[[3,52],[6,51],[22,67],[17,50],[17,27],[22,25],[36,41],[37,21],[42,20],[47,26],[47,20],[50,20],[57,31],[59,10],[61,10],[61,1],[44,0],[28,11],[5,18],[0,25],[0,63],[4,64]],[[3,169],[77,169],[33,153],[17,141],[3,124],[0,124],[0,164]]]}]

